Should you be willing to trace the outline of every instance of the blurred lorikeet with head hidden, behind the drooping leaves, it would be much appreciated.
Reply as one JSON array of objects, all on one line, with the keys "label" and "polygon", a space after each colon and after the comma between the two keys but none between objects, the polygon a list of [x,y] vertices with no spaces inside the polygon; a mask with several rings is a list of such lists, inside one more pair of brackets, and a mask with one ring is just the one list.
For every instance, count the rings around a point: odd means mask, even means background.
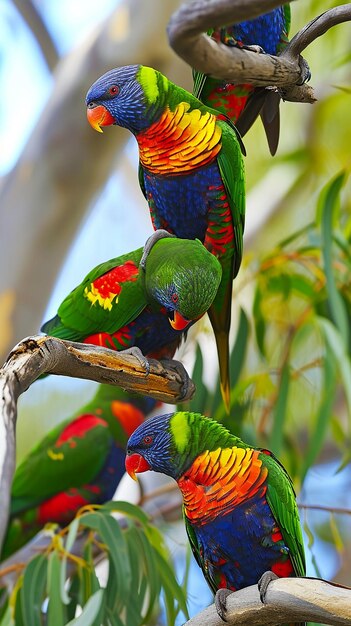
[{"label": "blurred lorikeet with head hidden, behind the drooping leaves", "polygon": [[49,523],[68,524],[86,504],[111,500],[125,469],[129,435],[156,406],[100,385],[94,398],[48,433],[15,472],[1,560]]}]

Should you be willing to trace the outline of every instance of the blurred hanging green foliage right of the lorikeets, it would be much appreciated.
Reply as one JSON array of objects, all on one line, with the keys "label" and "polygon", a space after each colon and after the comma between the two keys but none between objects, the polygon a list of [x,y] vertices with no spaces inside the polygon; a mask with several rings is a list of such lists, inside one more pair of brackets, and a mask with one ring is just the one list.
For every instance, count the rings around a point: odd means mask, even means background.
[{"label": "blurred hanging green foliage right of the lorikeets", "polygon": [[[231,354],[231,412],[218,383],[205,387],[197,348],[199,390],[190,410],[212,415],[250,443],[273,450],[303,481],[326,437],[350,460],[350,223],[341,201],[345,173],[320,193],[316,218],[268,254],[255,257],[250,300],[241,309]],[[252,373],[254,372],[254,373]],[[334,414],[335,398],[344,398]]]}]

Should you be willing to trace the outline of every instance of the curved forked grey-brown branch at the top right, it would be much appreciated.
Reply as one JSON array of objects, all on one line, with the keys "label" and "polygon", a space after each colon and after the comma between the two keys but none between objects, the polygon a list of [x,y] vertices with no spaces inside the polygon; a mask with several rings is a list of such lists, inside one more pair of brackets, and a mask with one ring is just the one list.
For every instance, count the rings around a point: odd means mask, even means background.
[{"label": "curved forked grey-brown branch at the top right", "polygon": [[299,53],[329,28],[351,20],[351,5],[341,5],[307,24],[275,57],[215,42],[205,32],[214,26],[252,19],[279,6],[279,0],[196,0],[183,5],[168,24],[174,51],[195,69],[232,83],[284,88],[284,99],[314,102],[313,89],[301,82],[304,66]]}]

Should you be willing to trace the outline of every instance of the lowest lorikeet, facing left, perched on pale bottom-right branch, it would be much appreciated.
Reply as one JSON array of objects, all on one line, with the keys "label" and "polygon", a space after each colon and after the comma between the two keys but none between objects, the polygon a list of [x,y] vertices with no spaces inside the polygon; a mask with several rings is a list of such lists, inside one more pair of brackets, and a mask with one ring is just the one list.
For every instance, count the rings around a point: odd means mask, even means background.
[{"label": "lowest lorikeet, facing left, perched on pale bottom-right branch", "polygon": [[[270,571],[304,576],[305,557],[291,479],[268,450],[253,448],[199,413],[151,418],[129,438],[127,472],[153,470],[182,492],[195,559],[220,613],[227,592]],[[223,601],[224,598],[224,601]]]}]

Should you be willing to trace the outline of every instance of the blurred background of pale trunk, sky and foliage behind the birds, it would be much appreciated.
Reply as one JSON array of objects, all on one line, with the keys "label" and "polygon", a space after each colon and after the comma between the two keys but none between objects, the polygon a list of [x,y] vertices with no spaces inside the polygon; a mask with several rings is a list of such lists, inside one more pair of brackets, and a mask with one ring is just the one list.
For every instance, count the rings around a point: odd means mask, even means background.
[{"label": "blurred background of pale trunk, sky and foliage behind the birds", "polygon": [[[151,234],[136,142],[117,127],[93,132],[84,98],[100,74],[138,62],[191,90],[191,69],[169,48],[165,30],[179,4],[99,0],[97,10],[91,0],[0,3],[2,361],[93,266]],[[294,2],[290,34],[336,4]],[[349,327],[350,29],[336,26],[305,51],[317,102],[282,103],[277,155],[270,156],[259,121],[244,140],[247,222],[234,283],[234,421],[227,423],[279,454],[302,504],[326,507],[301,509],[309,574],[344,584],[351,584],[351,518],[336,509],[351,508],[350,337],[335,313],[330,280]],[[335,191],[329,230],[328,190]],[[225,422],[207,319],[178,356],[196,368],[201,394],[191,408]],[[34,384],[20,399],[18,458],[95,388],[64,377]],[[181,530],[176,541],[168,526],[166,535],[183,562]],[[201,576],[189,580],[194,612],[211,595]]]}]

